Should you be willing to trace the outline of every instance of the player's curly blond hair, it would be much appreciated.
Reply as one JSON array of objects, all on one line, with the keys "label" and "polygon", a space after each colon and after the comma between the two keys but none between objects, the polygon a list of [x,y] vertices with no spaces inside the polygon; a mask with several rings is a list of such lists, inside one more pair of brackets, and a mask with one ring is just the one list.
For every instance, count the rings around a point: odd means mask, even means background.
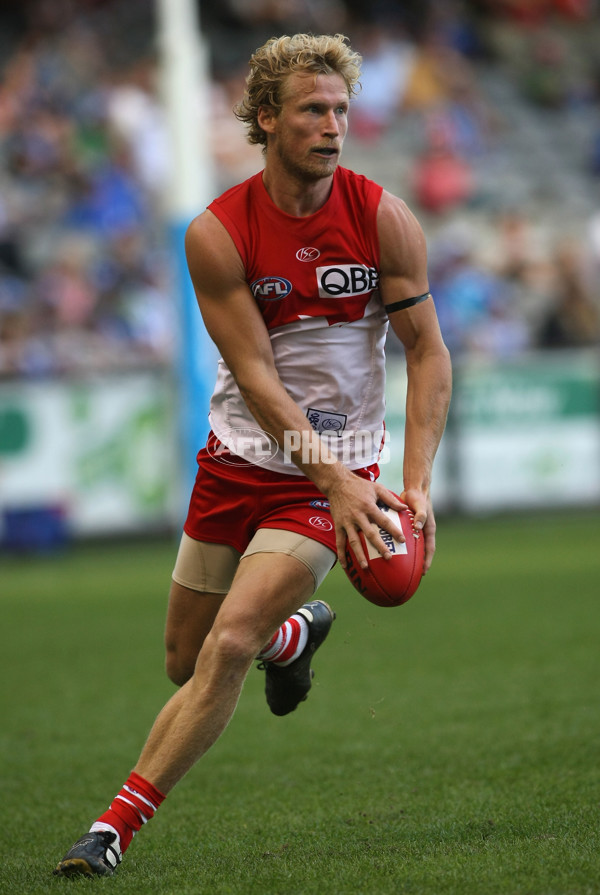
[{"label": "player's curly blond hair", "polygon": [[282,89],[288,75],[308,73],[340,75],[348,96],[360,89],[362,57],[349,45],[343,34],[294,34],[272,37],[250,57],[246,90],[233,113],[248,129],[249,143],[266,146],[267,135],[258,123],[258,110],[270,106],[279,114]]}]

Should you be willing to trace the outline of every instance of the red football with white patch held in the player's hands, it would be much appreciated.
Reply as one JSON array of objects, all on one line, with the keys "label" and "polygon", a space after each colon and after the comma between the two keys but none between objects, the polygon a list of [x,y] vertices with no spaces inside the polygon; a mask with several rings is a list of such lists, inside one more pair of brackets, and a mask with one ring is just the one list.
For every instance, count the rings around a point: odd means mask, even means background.
[{"label": "red football with white patch held in the player's hands", "polygon": [[380,528],[379,533],[392,554],[391,559],[384,559],[362,531],[359,532],[368,568],[361,569],[354,551],[346,542],[345,572],[365,600],[376,606],[401,606],[410,600],[423,577],[423,532],[413,528],[414,516],[410,510],[397,512],[386,505],[381,505],[381,509],[402,529],[406,541],[396,541],[389,532]]}]

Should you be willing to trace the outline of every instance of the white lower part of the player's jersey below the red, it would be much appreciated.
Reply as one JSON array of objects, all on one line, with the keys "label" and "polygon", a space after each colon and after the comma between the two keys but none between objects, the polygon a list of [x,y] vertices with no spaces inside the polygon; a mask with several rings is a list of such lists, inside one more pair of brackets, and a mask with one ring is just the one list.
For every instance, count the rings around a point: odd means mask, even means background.
[{"label": "white lower part of the player's jersey below the red", "polygon": [[[359,320],[307,317],[270,330],[275,366],[290,397],[334,456],[350,469],[376,463],[384,431],[387,315],[378,293]],[[213,432],[233,453],[273,472],[298,475],[248,410],[221,359],[211,400]],[[256,433],[257,437],[253,437]],[[293,436],[292,436],[293,438]]]}]

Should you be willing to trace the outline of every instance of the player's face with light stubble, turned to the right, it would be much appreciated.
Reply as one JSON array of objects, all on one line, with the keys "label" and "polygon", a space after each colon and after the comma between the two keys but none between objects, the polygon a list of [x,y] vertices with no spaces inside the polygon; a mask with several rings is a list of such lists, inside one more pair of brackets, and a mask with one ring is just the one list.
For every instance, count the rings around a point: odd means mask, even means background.
[{"label": "player's face with light stubble, turned to the right", "polygon": [[341,75],[289,75],[279,115],[263,108],[259,118],[268,134],[268,157],[301,179],[330,177],[348,129],[348,105]]}]

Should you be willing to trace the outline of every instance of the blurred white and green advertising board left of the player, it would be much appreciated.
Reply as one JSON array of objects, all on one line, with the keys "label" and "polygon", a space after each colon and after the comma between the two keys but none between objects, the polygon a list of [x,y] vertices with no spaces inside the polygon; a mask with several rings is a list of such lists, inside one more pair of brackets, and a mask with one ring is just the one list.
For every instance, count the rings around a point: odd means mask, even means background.
[{"label": "blurred white and green advertising board left of the player", "polygon": [[176,515],[173,388],[163,374],[0,386],[0,513],[59,507],[75,534]]}]

